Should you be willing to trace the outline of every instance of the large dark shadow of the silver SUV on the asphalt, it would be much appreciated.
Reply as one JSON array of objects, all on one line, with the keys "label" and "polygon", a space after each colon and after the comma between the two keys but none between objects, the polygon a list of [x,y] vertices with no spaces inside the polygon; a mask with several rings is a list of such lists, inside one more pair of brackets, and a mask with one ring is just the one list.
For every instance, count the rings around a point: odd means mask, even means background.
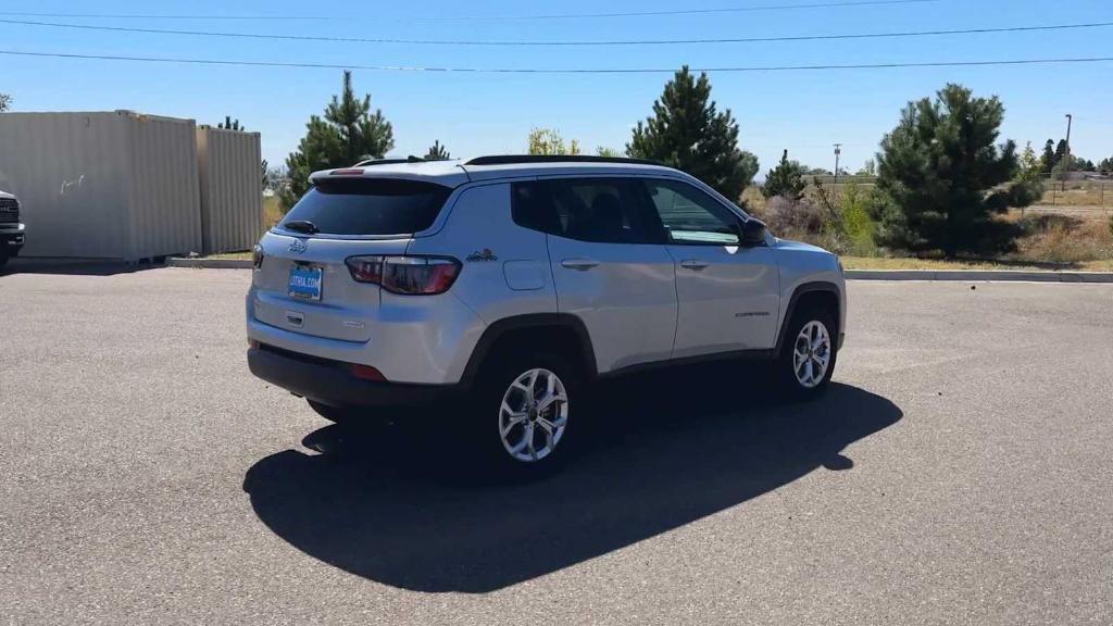
[{"label": "large dark shadow of the silver SUV on the asphalt", "polygon": [[[718,392],[707,393],[713,387]],[[259,519],[302,551],[420,591],[485,593],[604,555],[746,502],[897,422],[902,411],[833,384],[804,404],[756,402],[737,380],[612,385],[590,443],[529,481],[471,480],[425,429],[329,426],[248,470]]]}]

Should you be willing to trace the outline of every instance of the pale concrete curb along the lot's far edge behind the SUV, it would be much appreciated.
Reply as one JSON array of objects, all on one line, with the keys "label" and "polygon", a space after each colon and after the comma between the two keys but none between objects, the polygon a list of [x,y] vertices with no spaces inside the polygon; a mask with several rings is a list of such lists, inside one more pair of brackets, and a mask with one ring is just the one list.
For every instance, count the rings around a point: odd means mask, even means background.
[{"label": "pale concrete curb along the lot's far edge behind the SUV", "polygon": [[[166,261],[169,267],[250,270],[246,258],[186,258]],[[1028,283],[1113,283],[1113,272],[1031,272],[1020,270],[847,270],[848,281],[977,281]]]}]

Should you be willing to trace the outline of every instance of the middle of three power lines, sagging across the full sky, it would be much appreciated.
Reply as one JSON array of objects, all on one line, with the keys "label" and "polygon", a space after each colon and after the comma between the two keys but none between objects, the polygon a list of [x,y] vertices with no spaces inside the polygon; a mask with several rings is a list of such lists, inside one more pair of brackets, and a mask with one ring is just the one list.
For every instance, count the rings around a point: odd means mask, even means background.
[{"label": "middle of three power lines, sagging across the full sky", "polygon": [[100,30],[111,32],[140,32],[146,35],[184,35],[189,37],[220,37],[239,39],[277,39],[285,41],[329,41],[343,43],[405,43],[405,45],[430,45],[430,46],[674,46],[674,45],[697,45],[697,43],[758,43],[774,41],[829,41],[836,39],[890,39],[902,37],[933,37],[947,35],[989,35],[1003,32],[1033,32],[1048,30],[1077,30],[1087,28],[1106,28],[1113,22],[1086,22],[1066,23],[1050,26],[1015,26],[999,28],[967,28],[955,30],[914,30],[897,32],[858,32],[843,35],[798,35],[785,37],[741,37],[741,38],[716,38],[716,39],[628,39],[628,40],[602,40],[602,41],[530,41],[530,40],[467,40],[467,39],[387,39],[366,37],[332,37],[314,35],[275,35],[255,32],[228,32],[209,30],[177,30],[162,28],[136,28],[122,26],[97,26],[82,23],[59,23],[41,22],[32,20],[11,20],[0,18],[0,23],[68,28],[80,30]]}]

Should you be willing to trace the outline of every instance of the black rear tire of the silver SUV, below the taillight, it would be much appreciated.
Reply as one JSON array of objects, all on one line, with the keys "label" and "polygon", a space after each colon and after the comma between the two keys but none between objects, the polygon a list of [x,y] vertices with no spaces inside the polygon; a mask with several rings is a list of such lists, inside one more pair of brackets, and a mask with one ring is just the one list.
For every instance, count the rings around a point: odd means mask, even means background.
[{"label": "black rear tire of the silver SUV, below the taillight", "polygon": [[[531,415],[528,421],[533,429],[534,447],[528,447],[519,452],[520,456],[532,457],[533,454],[529,452],[531,449],[536,452],[539,449],[549,447],[546,433],[553,432],[554,437],[551,451],[535,460],[523,460],[520,457],[515,458],[511,448],[525,440],[526,427],[524,422],[512,427],[511,431],[508,432],[510,442],[504,442],[502,405],[511,387],[523,375],[535,370],[555,375],[559,385],[564,389],[567,402],[554,402],[543,412],[524,411]],[[536,381],[536,392],[544,395],[546,383],[541,380],[542,376],[544,376],[543,373],[539,375]],[[560,354],[496,356],[481,370],[470,403],[469,419],[464,420],[466,423],[460,426],[467,429],[465,439],[470,440],[471,451],[477,457],[481,468],[493,469],[500,476],[540,476],[563,466],[573,454],[577,439],[582,434],[587,421],[587,407],[583,405],[588,400],[587,397],[581,372],[571,364],[569,359]],[[511,393],[509,400],[514,403],[528,402],[525,393],[521,390],[518,393]],[[514,407],[514,409],[518,408]],[[564,412],[563,418],[561,418],[561,411]],[[558,428],[555,432],[551,430],[552,426],[559,426],[561,422],[564,424],[563,428]],[[544,426],[546,423],[550,428]]]}]

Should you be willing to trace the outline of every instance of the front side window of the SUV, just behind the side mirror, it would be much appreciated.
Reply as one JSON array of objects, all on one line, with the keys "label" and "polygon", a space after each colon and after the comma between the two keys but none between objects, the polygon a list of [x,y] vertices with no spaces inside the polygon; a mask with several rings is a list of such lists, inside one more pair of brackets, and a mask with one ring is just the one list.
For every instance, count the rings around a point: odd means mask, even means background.
[{"label": "front side window of the SUV, just behind the side mirror", "polygon": [[678,180],[646,180],[669,243],[737,245],[740,219],[706,192]]}]

